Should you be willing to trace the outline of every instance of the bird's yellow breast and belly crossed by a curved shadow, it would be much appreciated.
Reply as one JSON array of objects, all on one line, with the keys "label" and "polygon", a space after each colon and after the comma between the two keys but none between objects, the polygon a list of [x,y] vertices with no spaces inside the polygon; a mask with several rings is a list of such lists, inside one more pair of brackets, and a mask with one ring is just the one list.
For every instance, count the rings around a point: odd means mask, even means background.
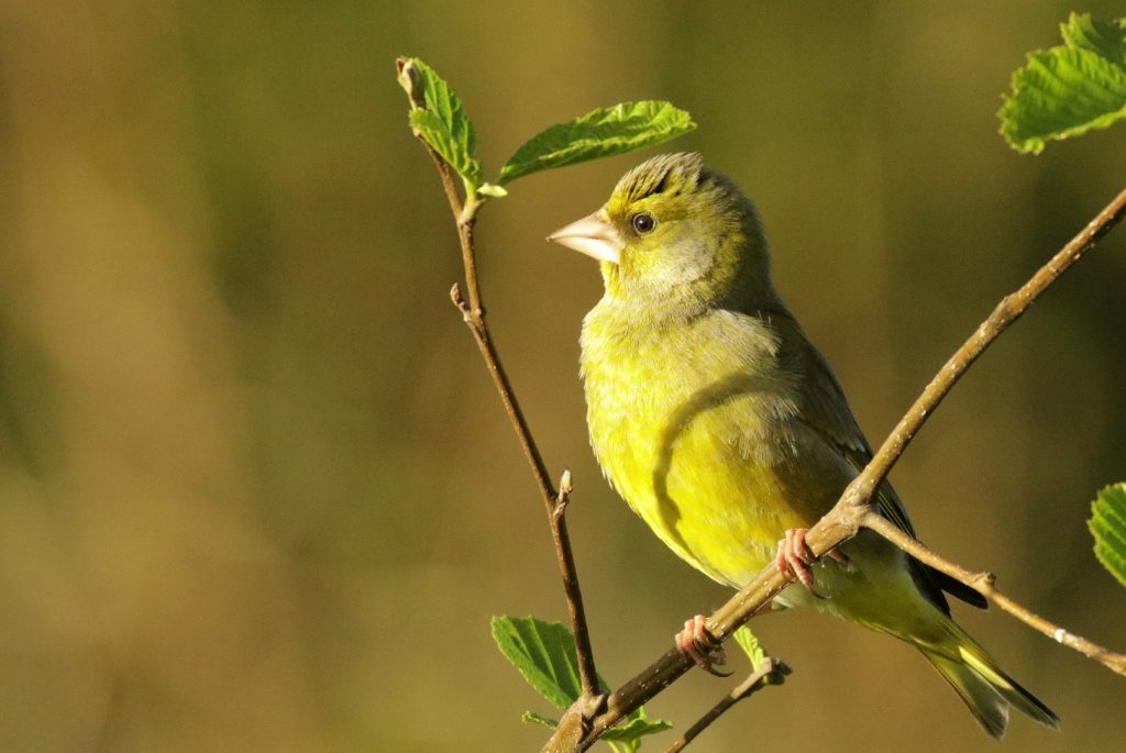
[{"label": "bird's yellow breast and belly crossed by a curved shadow", "polygon": [[771,558],[780,531],[807,525],[784,488],[787,380],[765,341],[747,342],[742,330],[623,326],[597,314],[584,322],[582,368],[604,473],[677,554],[741,584]]}]

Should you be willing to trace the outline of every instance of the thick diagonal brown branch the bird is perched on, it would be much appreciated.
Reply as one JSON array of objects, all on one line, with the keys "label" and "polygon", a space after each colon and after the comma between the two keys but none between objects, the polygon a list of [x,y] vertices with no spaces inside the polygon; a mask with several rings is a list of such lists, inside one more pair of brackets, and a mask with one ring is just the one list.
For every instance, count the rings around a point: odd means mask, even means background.
[{"label": "thick diagonal brown branch the bird is perched on", "polygon": [[[922,424],[926,423],[927,418],[938,407],[966,369],[1001,335],[1009,324],[1019,319],[1048,287],[1058,280],[1087,249],[1094,245],[1099,239],[1117,225],[1124,215],[1126,215],[1126,189],[1111,199],[1020,289],[1001,299],[990,316],[982,322],[931,379],[919,398],[896,424],[894,431],[884,440],[872,461],[844,488],[832,510],[810,529],[805,543],[815,556],[821,557],[826,552],[848,541],[856,536],[861,526],[870,520],[868,516],[879,514],[872,503],[876,488],[922,428]],[[953,575],[953,573],[950,574]],[[771,563],[712,615],[708,619],[708,631],[716,639],[725,640],[739,626],[767,608],[770,600],[785,589],[790,580],[781,575]],[[1079,649],[1079,636],[1073,636],[1064,630],[1063,633],[1054,633],[1053,637],[1063,645]],[[1093,644],[1091,645],[1093,646]],[[1115,669],[1112,663],[1107,665]],[[678,653],[676,648],[665,652],[653,664],[610,694],[606,701],[606,709],[590,719],[589,733],[577,747],[556,747],[549,741],[544,750],[587,750],[604,730],[660,693],[691,667],[691,660]]]}]

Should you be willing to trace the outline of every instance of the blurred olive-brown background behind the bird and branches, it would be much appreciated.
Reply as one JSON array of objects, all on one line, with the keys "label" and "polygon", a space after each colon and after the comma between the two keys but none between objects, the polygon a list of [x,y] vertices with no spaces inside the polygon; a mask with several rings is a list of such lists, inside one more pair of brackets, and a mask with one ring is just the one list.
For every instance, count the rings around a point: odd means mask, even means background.
[{"label": "blurred olive-brown background behind the bird and branches", "polygon": [[[1072,10],[1120,2],[0,1],[0,748],[530,751],[549,712],[492,615],[565,616],[530,474],[449,304],[454,227],[394,59],[463,97],[488,177],[528,136],[670,99],[758,201],[777,283],[878,442],[1123,186],[1118,126],[1020,156],[994,113]],[[485,207],[490,321],[570,511],[619,683],[729,595],[602,482],[578,333],[595,265],[544,236],[655,153]],[[923,538],[1126,648],[1093,559],[1126,478],[1126,228],[971,370],[893,478]],[[1126,681],[959,619],[1063,717],[1007,750],[1121,750]],[[812,613],[795,670],[699,751],[1000,750],[915,652]],[[649,706],[686,728],[735,680]],[[826,742],[830,741],[830,742]],[[921,742],[924,741],[924,742]],[[668,741],[664,743],[668,744]],[[661,750],[651,742],[645,750]],[[606,748],[604,748],[606,750]]]}]

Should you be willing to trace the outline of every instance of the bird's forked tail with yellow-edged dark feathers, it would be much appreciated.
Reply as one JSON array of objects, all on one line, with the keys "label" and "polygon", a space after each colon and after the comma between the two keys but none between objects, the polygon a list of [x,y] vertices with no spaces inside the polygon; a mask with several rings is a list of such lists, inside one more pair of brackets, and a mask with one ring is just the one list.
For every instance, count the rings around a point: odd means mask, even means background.
[{"label": "bird's forked tail with yellow-edged dark feathers", "polygon": [[985,732],[998,739],[1004,735],[1010,706],[1047,727],[1060,726],[1060,717],[1006,674],[965,630],[953,620],[946,628],[946,639],[939,645],[917,645]]}]

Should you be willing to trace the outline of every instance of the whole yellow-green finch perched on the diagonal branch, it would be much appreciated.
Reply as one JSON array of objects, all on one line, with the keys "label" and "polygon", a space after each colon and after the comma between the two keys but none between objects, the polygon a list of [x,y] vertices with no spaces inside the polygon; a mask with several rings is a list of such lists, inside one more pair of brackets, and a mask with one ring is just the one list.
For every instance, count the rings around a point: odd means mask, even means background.
[{"label": "whole yellow-green finch perched on the diagonal branch", "polygon": [[[812,608],[917,647],[986,733],[1009,709],[1060,718],[951,617],[976,591],[863,530],[814,561],[805,531],[872,449],[824,357],[771,280],[754,205],[698,153],[629,170],[606,204],[548,236],[598,260],[605,293],[582,322],[590,443],[610,485],[670,549],[741,588],[770,563],[795,581],[776,609]],[[890,483],[878,510],[915,531]],[[677,646],[707,667],[703,616]]]}]

